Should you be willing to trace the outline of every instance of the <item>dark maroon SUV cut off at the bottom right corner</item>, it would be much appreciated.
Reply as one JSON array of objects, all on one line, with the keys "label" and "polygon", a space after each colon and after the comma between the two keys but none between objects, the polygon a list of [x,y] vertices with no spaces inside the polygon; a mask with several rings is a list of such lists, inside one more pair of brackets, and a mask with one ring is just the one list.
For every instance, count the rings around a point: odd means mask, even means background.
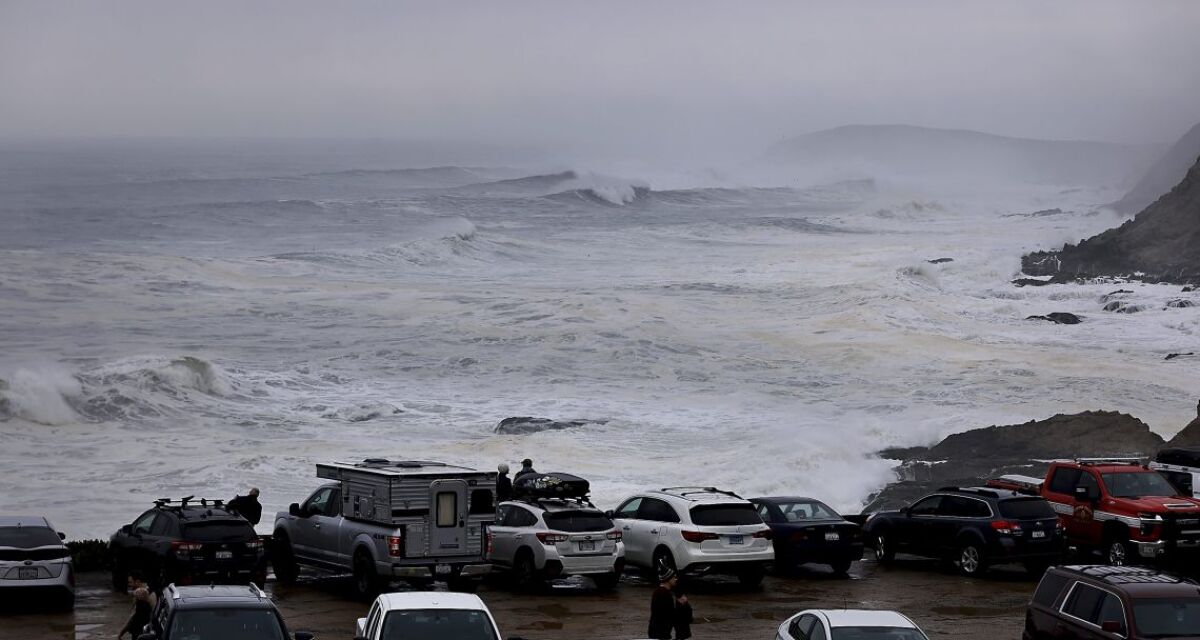
[{"label": "dark maroon SUV cut off at the bottom right corner", "polygon": [[1021,638],[1200,638],[1200,584],[1144,567],[1052,567]]}]

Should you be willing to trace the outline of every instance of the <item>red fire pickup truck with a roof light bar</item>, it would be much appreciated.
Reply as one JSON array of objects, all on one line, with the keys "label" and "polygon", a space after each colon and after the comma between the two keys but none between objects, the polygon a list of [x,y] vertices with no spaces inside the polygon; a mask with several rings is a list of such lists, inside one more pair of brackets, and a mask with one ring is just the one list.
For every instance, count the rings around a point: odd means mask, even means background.
[{"label": "red fire pickup truck with a roof light bar", "polygon": [[1044,480],[1002,475],[988,484],[1042,496],[1068,544],[1100,549],[1110,564],[1200,551],[1200,500],[1138,460],[1054,462]]}]

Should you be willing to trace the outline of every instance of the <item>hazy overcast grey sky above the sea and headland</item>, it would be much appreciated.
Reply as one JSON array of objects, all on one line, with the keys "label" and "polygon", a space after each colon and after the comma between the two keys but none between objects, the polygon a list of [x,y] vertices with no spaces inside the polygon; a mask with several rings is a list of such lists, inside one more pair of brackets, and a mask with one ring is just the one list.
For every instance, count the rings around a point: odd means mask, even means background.
[{"label": "hazy overcast grey sky above the sea and headland", "polygon": [[0,137],[761,148],[854,122],[1169,142],[1200,2],[18,2]]}]

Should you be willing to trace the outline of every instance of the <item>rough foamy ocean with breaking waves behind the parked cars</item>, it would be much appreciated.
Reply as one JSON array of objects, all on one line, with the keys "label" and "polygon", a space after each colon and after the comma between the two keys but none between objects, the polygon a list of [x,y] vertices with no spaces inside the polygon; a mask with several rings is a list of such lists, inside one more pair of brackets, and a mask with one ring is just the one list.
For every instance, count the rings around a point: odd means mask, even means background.
[{"label": "rough foamy ocean with breaking waves behind the parked cars", "polygon": [[[883,447],[1194,417],[1178,287],[1010,283],[1118,223],[1120,189],[437,160],[0,148],[0,512],[107,537],[157,497],[286,509],[318,461],[528,456],[601,507],[701,484],[857,513]],[[1102,311],[1120,288],[1145,310]],[[1052,311],[1085,322],[1026,319]],[[586,424],[497,435],[514,415]]]}]

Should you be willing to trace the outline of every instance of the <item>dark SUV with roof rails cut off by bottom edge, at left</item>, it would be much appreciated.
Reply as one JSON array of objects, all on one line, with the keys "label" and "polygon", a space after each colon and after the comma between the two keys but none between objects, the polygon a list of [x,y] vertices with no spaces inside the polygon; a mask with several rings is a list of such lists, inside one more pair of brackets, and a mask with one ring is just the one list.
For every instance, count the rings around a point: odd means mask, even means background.
[{"label": "dark SUV with roof rails cut off by bottom edge, at left", "polygon": [[[138,640],[289,640],[275,603],[254,585],[176,587],[169,585]],[[296,632],[294,640],[312,640]]]}]

